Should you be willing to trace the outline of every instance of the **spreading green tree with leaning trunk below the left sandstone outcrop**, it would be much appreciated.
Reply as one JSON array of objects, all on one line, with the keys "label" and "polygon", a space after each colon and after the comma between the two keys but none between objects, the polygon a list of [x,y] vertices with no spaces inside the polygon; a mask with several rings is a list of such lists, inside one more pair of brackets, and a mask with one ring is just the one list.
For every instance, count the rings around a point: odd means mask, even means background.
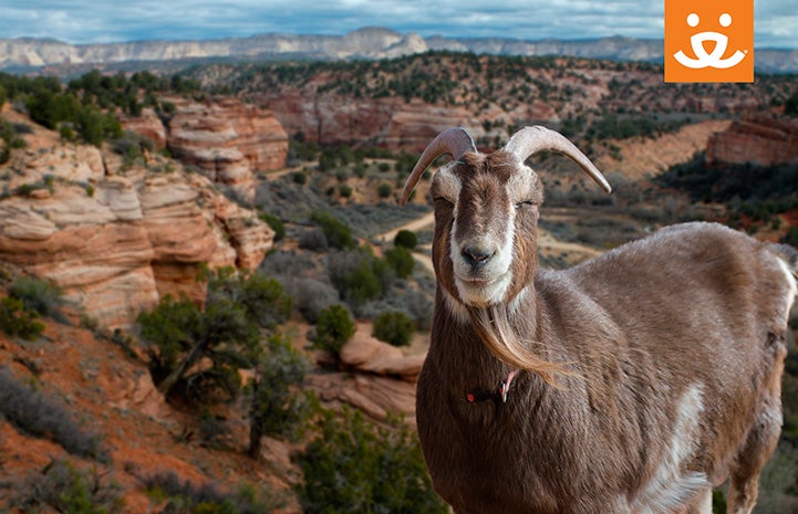
[{"label": "spreading green tree with leaning trunk below the left sandstone outcrop", "polygon": [[[238,370],[252,367],[261,353],[259,328],[284,321],[291,301],[282,286],[259,273],[232,269],[208,271],[205,310],[183,296],[167,295],[138,316],[142,337],[152,344],[152,368],[158,390],[168,395],[182,384],[187,399],[211,392],[235,397]],[[209,367],[195,367],[207,358]]]}]

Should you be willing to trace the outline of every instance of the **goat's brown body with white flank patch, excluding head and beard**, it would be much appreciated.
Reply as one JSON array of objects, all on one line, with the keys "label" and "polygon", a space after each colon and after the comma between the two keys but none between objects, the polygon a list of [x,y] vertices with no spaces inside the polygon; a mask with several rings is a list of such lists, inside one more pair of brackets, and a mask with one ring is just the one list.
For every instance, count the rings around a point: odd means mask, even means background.
[{"label": "goat's brown body with white flank patch, excluding head and beard", "polygon": [[416,406],[436,490],[458,514],[669,513],[706,508],[732,476],[733,501],[753,507],[781,426],[795,293],[768,245],[709,223],[540,270],[511,325],[578,376],[558,389],[521,371],[506,403],[470,403],[511,367],[438,284]]}]

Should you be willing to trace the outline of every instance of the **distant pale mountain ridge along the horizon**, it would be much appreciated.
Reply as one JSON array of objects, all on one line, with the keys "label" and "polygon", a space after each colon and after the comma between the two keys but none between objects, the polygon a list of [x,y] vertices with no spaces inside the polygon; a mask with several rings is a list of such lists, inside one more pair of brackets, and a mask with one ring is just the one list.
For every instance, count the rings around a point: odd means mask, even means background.
[{"label": "distant pale mountain ridge along the horizon", "polygon": [[[123,62],[253,59],[391,59],[428,50],[497,55],[572,55],[616,61],[663,59],[662,40],[624,36],[591,40],[518,40],[505,38],[422,38],[383,28],[363,28],[344,35],[266,33],[249,38],[201,41],[133,41],[70,44],[53,39],[0,39],[0,70],[33,71],[45,66],[80,66]],[[757,49],[763,73],[798,73],[798,50]]]}]

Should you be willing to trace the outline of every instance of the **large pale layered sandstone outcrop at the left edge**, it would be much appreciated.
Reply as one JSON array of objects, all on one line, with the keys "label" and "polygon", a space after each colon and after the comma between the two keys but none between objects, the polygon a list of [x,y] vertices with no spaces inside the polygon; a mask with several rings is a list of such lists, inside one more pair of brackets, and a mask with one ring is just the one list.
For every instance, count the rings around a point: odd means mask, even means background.
[{"label": "large pale layered sandstone outcrop at the left edge", "polygon": [[252,269],[271,248],[271,229],[200,175],[123,167],[111,153],[45,136],[38,128],[29,139],[43,146],[14,153],[7,166],[17,172],[0,179],[10,191],[0,261],[52,280],[104,326],[129,325],[167,293],[200,300],[200,264]]}]

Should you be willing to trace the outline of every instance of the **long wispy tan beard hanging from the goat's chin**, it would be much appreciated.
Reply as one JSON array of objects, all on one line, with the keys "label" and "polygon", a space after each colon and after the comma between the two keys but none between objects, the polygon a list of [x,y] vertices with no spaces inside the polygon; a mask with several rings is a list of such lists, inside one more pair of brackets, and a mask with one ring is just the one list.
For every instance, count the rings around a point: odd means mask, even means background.
[{"label": "long wispy tan beard hanging from the goat's chin", "polygon": [[535,373],[551,386],[557,386],[556,375],[571,375],[561,365],[543,360],[532,353],[530,346],[542,345],[535,340],[521,340],[518,331],[512,326],[511,314],[507,305],[467,306],[466,308],[483,344],[499,360]]}]

